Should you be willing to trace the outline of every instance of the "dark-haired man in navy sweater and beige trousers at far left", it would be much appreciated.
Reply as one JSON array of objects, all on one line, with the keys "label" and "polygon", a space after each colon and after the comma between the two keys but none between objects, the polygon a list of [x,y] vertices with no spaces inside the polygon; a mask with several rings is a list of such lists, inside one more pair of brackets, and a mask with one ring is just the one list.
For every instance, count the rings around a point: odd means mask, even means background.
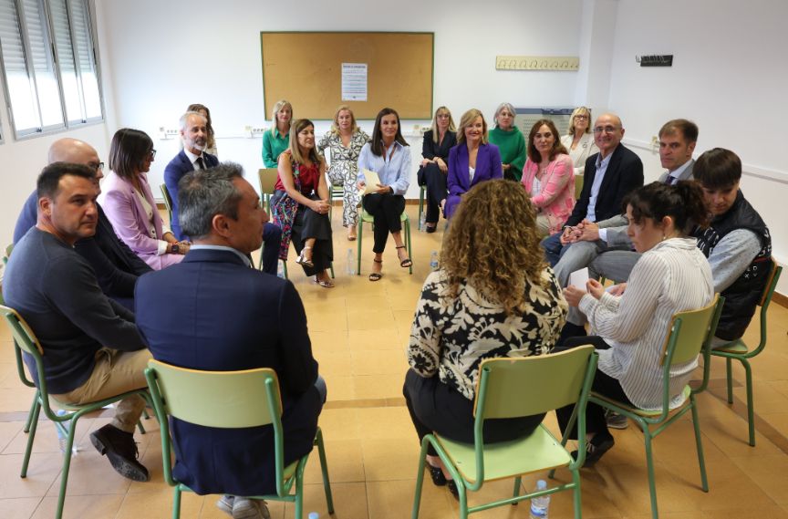
[{"label": "dark-haired man in navy sweater and beige trousers at far left", "polygon": [[[96,232],[99,190],[88,166],[55,162],[38,177],[38,222],[14,247],[3,296],[33,329],[44,349],[49,393],[65,403],[85,403],[147,386],[150,353],[134,315],[105,296],[74,244]],[[36,365],[25,360],[33,379]],[[148,481],[137,461],[134,427],[145,400],[120,400],[115,418],[90,441],[112,467],[134,481]]]}]

